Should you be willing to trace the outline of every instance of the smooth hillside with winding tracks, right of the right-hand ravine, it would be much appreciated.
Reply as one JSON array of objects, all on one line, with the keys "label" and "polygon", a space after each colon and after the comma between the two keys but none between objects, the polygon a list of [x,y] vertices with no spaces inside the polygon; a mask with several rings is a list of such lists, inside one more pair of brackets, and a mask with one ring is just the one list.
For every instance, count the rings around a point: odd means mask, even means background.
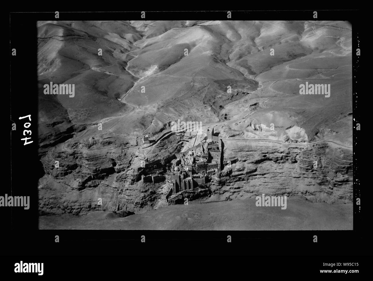
[{"label": "smooth hillside with winding tracks, right of the right-hand ravine", "polygon": [[[225,30],[220,25],[216,28]],[[247,118],[249,123],[267,127],[271,123],[283,129],[298,125],[306,130],[309,139],[335,139],[351,145],[351,25],[255,22],[248,31],[252,31],[251,37],[247,33],[244,36],[251,38],[251,49],[233,51],[227,64],[257,80],[260,86],[250,97],[226,105],[220,114],[228,114],[232,121]],[[236,34],[242,37],[239,31]],[[239,40],[234,46],[240,46]],[[300,95],[299,86],[306,82],[330,84],[330,97]]]}]

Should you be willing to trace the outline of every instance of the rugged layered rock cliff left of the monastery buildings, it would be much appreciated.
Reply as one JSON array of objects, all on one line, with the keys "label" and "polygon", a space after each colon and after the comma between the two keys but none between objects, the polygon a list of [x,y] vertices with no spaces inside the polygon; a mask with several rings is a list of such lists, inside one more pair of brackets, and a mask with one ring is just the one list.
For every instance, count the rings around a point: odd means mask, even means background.
[{"label": "rugged layered rock cliff left of the monastery buildings", "polygon": [[137,156],[126,145],[118,139],[91,138],[50,149],[41,157],[45,175],[39,180],[40,213],[153,209],[163,196],[163,183],[131,185],[131,162]]}]

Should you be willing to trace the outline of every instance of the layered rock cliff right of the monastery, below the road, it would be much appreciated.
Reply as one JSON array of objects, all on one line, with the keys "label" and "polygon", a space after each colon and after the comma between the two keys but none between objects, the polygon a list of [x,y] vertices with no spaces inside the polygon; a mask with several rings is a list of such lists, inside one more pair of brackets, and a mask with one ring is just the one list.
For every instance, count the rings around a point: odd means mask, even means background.
[{"label": "layered rock cliff right of the monastery, below the road", "polygon": [[[241,148],[240,148],[241,146]],[[230,148],[232,150],[230,150]],[[229,146],[231,167],[213,193],[223,198],[250,198],[258,194],[303,195],[312,202],[352,201],[352,153],[327,143],[284,148],[253,148],[241,143]],[[229,160],[229,159],[227,159]]]}]

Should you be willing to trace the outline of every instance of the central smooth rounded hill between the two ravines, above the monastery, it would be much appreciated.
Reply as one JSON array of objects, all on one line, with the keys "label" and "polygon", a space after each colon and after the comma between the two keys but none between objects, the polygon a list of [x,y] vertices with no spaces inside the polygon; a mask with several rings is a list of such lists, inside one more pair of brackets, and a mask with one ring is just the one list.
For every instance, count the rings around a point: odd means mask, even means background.
[{"label": "central smooth rounded hill between the two ravines, above the monastery", "polygon": [[[219,55],[227,38],[205,26],[186,31],[175,28],[138,44],[141,50],[135,51],[137,57],[127,69],[137,70],[135,75],[141,79],[123,96],[123,101],[160,106],[158,115],[170,115],[171,119],[182,116],[219,121],[219,105],[231,102],[232,93],[238,90],[256,89],[258,83],[229,67]],[[233,88],[230,93],[228,86]]]}]

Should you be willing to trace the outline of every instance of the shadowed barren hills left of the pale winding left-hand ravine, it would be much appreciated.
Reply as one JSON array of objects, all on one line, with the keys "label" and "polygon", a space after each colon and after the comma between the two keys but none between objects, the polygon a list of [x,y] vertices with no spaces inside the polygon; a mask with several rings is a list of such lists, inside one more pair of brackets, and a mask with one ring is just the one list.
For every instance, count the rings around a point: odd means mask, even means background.
[{"label": "shadowed barren hills left of the pale winding left-hand ravine", "polygon": [[[53,110],[56,106],[64,109],[62,118],[72,122],[75,130],[122,114],[125,105],[117,98],[135,81],[125,70],[126,61],[132,58],[125,53],[140,38],[124,22],[38,22],[40,118],[49,120],[40,122],[40,132],[65,130],[59,128],[61,115]],[[75,84],[75,96],[44,95],[43,85],[50,82]]]}]

